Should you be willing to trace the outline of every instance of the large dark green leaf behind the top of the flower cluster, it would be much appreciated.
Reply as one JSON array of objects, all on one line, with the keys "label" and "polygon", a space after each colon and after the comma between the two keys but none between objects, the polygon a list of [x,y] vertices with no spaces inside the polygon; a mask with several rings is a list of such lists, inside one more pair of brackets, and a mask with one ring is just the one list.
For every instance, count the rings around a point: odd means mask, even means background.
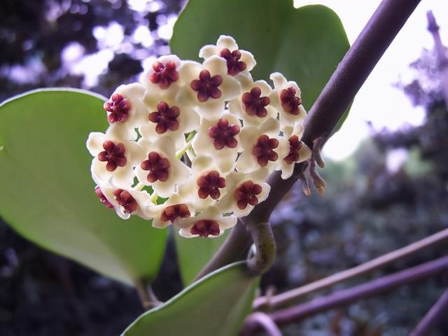
[{"label": "large dark green leaf behind the top of the flower cluster", "polygon": [[253,53],[255,79],[274,71],[295,80],[305,109],[314,103],[349,48],[337,15],[325,6],[293,8],[292,0],[190,0],[174,25],[172,51],[198,59],[202,45],[233,36]]}]

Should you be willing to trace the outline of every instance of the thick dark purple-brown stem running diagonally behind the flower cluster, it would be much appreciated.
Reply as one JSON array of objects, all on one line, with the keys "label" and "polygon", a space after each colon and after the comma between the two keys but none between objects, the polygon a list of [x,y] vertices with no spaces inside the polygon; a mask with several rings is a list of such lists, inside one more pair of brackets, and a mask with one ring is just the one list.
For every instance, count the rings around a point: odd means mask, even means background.
[{"label": "thick dark purple-brown stem running diagonally behind the flower cluster", "polygon": [[[302,141],[310,148],[313,147],[315,139],[329,137],[355,94],[419,2],[420,0],[381,2],[363,31],[346,52],[344,59],[337,66],[304,120]],[[269,222],[272,211],[302,176],[303,169],[304,164],[297,164],[293,176],[287,180],[281,179],[279,172],[272,173],[267,179],[267,183],[271,186],[267,200],[258,204],[251,214],[243,218],[244,222]],[[225,244],[221,246],[214,258],[209,260],[197,278],[241,258],[241,254],[244,254],[247,246],[251,244],[250,235],[241,228],[241,225],[240,221],[233,229],[237,230],[239,235],[229,235]]]}]

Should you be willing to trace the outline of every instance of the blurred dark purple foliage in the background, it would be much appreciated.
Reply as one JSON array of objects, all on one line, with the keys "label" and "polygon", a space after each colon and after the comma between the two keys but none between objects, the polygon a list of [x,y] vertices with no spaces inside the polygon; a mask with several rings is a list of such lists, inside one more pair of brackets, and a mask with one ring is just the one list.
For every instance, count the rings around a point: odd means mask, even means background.
[{"label": "blurred dark purple foliage in the background", "polygon": [[[169,53],[183,1],[3,0],[0,101],[36,87],[82,87],[106,97],[142,61]],[[92,66],[94,64],[94,66]],[[448,112],[430,50],[400,83],[426,109],[418,127],[373,130],[351,158],[327,160],[325,196],[297,184],[272,216],[279,258],[262,288],[283,291],[353,267],[448,226]],[[391,106],[391,113],[395,107]],[[356,111],[352,111],[356,113]],[[344,146],[344,144],[341,144]],[[347,283],[345,288],[447,253],[446,244]],[[448,286],[442,274],[284,328],[285,335],[407,335]],[[155,293],[181,290],[169,244]],[[323,291],[307,297],[328,293]],[[52,255],[0,223],[0,335],[116,335],[141,313],[137,293]],[[448,322],[435,335],[444,335]]]}]

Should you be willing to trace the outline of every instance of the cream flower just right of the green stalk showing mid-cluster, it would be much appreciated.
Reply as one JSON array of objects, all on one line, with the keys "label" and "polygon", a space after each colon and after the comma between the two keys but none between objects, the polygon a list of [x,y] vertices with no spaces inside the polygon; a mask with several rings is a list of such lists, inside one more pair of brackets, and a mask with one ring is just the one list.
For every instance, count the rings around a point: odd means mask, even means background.
[{"label": "cream flower just right of the green stalk showing mid-cluster", "polygon": [[231,172],[235,167],[239,144],[239,119],[230,113],[223,113],[214,120],[202,119],[199,130],[193,139],[193,149],[197,155],[213,158],[221,172]]}]

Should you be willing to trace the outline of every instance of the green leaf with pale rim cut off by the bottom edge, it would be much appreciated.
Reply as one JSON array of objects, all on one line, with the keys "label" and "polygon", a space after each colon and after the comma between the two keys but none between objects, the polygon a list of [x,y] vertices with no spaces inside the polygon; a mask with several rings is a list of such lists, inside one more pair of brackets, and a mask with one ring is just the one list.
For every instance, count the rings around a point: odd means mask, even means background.
[{"label": "green leaf with pale rim cut off by the bottom edge", "polygon": [[225,266],[147,311],[123,336],[238,335],[258,286],[245,262]]}]

